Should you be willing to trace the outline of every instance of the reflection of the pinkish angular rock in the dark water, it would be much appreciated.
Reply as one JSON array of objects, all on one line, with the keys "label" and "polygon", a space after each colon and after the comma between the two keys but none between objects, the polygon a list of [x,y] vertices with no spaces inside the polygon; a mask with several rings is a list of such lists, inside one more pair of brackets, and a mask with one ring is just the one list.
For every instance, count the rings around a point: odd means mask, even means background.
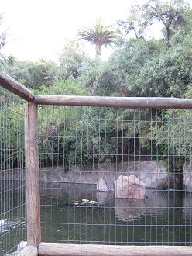
[{"label": "reflection of the pinkish angular rock in the dark water", "polygon": [[146,213],[145,200],[115,198],[115,216],[118,220],[134,221]]}]

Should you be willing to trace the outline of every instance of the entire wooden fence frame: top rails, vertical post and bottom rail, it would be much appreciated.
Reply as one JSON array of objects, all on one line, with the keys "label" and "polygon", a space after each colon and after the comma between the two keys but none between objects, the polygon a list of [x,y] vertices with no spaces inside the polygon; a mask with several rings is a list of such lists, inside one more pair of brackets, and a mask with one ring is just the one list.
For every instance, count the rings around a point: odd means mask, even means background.
[{"label": "entire wooden fence frame: top rails, vertical post and bottom rail", "polygon": [[122,108],[192,109],[192,99],[34,95],[0,71],[0,85],[28,103],[25,107],[27,247],[20,256],[45,255],[192,255],[192,247],[116,246],[41,243],[37,104]]}]

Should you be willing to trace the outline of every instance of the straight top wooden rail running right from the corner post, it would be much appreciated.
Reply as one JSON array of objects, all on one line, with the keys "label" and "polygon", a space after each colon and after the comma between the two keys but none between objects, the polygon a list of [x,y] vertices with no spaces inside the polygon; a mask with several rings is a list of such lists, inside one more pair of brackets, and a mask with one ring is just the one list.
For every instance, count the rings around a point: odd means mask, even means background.
[{"label": "straight top wooden rail running right from the corner post", "polygon": [[35,95],[33,102],[36,104],[63,105],[63,106],[192,109],[192,99],[160,98],[160,97],[98,97],[98,96]]}]

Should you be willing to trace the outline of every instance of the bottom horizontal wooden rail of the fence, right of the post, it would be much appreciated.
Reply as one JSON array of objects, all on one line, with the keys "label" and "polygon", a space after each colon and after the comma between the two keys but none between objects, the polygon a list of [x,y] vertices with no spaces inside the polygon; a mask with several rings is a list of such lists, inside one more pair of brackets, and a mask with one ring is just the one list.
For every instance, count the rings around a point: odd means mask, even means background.
[{"label": "bottom horizontal wooden rail of the fence, right of the post", "polygon": [[118,246],[98,244],[56,244],[41,243],[39,256],[64,256],[64,255],[191,255],[192,247],[183,246]]}]

